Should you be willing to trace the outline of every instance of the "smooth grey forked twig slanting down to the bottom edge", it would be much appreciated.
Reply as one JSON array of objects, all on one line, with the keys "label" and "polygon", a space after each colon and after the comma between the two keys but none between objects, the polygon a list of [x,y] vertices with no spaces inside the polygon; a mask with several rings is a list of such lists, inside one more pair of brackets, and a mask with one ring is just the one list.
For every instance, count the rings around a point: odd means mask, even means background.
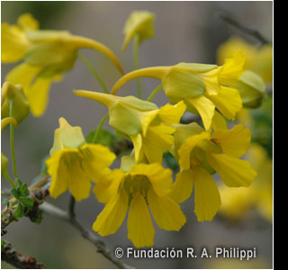
[{"label": "smooth grey forked twig slanting down to the bottom edge", "polygon": [[127,266],[124,264],[120,259],[117,259],[114,257],[109,250],[108,247],[106,247],[105,243],[100,240],[99,238],[94,235],[90,230],[85,229],[78,220],[76,220],[76,214],[75,214],[75,199],[71,196],[70,202],[69,202],[69,210],[63,211],[59,209],[58,207],[50,204],[49,202],[43,202],[41,204],[41,209],[49,214],[50,216],[57,217],[61,220],[67,221],[69,224],[73,225],[76,229],[78,229],[81,233],[81,235],[94,244],[96,247],[96,251],[98,253],[101,253],[103,257],[106,257],[108,260],[112,262],[114,266],[117,266],[120,269],[130,269],[132,267]]}]

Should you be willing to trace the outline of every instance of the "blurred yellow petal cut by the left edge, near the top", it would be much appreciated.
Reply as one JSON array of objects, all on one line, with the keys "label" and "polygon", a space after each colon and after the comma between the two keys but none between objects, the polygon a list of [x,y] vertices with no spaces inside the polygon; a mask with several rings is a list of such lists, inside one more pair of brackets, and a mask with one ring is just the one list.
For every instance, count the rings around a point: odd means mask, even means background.
[{"label": "blurred yellow petal cut by the left edge, near the top", "polygon": [[21,60],[30,46],[25,33],[18,26],[1,23],[1,61],[13,63]]}]

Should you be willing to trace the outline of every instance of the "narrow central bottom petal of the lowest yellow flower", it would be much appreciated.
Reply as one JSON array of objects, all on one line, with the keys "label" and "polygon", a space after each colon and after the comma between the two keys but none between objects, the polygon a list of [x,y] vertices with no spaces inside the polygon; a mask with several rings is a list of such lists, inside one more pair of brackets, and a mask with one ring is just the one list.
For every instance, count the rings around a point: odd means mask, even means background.
[{"label": "narrow central bottom petal of the lowest yellow flower", "polygon": [[128,238],[135,247],[152,247],[155,229],[145,199],[139,193],[132,199],[127,221]]}]

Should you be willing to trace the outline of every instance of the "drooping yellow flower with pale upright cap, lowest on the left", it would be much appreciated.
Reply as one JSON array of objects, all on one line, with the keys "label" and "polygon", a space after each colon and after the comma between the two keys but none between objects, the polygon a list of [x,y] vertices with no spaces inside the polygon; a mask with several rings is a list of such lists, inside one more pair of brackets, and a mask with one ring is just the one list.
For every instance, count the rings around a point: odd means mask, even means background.
[{"label": "drooping yellow flower with pale upright cap, lowest on the left", "polygon": [[87,198],[91,181],[97,183],[108,173],[108,166],[114,158],[115,155],[108,148],[85,143],[81,128],[72,127],[64,118],[60,118],[50,157],[46,161],[51,175],[51,197],[57,198],[69,189],[76,201]]}]

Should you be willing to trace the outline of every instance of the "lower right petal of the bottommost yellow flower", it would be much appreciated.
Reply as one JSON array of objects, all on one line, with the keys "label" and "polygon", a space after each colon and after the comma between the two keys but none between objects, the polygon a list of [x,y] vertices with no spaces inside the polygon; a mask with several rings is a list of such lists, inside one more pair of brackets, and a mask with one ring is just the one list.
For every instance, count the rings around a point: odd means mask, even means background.
[{"label": "lower right petal of the bottommost yellow flower", "polygon": [[153,189],[148,191],[148,203],[157,226],[166,230],[180,230],[186,218],[180,206],[169,196],[158,196]]}]

